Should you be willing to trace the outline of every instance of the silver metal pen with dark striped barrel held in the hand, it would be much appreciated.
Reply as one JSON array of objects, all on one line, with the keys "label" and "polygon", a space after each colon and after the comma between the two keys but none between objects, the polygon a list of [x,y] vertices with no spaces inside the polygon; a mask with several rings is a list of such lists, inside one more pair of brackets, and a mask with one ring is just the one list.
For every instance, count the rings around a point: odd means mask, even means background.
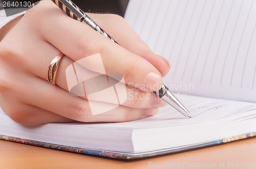
[{"label": "silver metal pen with dark striped barrel held in the hand", "polygon": [[[105,37],[109,38],[113,42],[117,43],[109,34],[103,31],[97,23],[95,23],[86,13],[84,13],[80,8],[78,8],[72,1],[70,0],[52,0],[54,4],[56,4],[63,12],[65,12],[71,18],[78,20],[80,22],[86,23],[92,29],[99,32],[100,34],[104,35]],[[118,44],[118,43],[117,43]],[[167,102],[169,105],[173,106],[177,109],[181,114],[185,117],[189,117],[190,113],[185,108],[185,106],[169,91],[169,89],[162,84],[162,88],[159,91],[154,92],[158,95],[161,99]]]}]

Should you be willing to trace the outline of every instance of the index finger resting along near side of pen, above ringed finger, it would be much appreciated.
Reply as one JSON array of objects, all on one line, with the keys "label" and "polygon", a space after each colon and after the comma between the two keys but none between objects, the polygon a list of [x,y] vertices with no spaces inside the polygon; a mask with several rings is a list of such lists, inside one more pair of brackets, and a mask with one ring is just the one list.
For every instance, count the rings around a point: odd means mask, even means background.
[{"label": "index finger resting along near side of pen, above ringed finger", "polygon": [[[53,3],[41,2],[47,15],[38,27],[46,40],[74,61],[100,53],[106,72],[119,72],[126,83],[144,91],[157,91],[162,86],[160,72],[145,59],[100,35],[91,27],[65,15]],[[32,8],[36,10],[39,6]],[[54,29],[55,28],[55,29]]]}]

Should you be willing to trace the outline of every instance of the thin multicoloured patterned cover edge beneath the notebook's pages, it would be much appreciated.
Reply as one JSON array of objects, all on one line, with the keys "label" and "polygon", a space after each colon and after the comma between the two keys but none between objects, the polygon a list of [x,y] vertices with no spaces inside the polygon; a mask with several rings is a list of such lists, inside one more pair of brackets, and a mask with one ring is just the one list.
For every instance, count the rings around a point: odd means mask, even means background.
[{"label": "thin multicoloured patterned cover edge beneath the notebook's pages", "polygon": [[171,153],[177,153],[177,152],[182,152],[182,151],[187,151],[187,150],[199,149],[199,148],[203,148],[203,147],[233,142],[236,140],[254,137],[254,136],[256,136],[256,132],[227,137],[227,138],[223,138],[223,139],[219,139],[219,140],[212,140],[210,142],[203,142],[203,143],[198,143],[198,144],[193,144],[193,145],[186,145],[186,146],[181,146],[181,147],[174,147],[174,148],[169,148],[169,149],[162,149],[162,150],[143,152],[143,153],[125,153],[125,152],[114,152],[114,151],[78,148],[78,147],[71,147],[71,146],[65,146],[65,145],[39,142],[36,140],[12,137],[12,136],[7,136],[7,135],[0,135],[0,139],[7,140],[10,142],[31,145],[31,146],[38,146],[38,147],[55,149],[55,150],[69,151],[69,152],[80,153],[80,154],[88,154],[88,155],[95,155],[95,156],[109,157],[109,158],[118,158],[118,159],[138,159],[138,158],[154,157],[154,156],[158,156],[158,155],[171,154]]}]

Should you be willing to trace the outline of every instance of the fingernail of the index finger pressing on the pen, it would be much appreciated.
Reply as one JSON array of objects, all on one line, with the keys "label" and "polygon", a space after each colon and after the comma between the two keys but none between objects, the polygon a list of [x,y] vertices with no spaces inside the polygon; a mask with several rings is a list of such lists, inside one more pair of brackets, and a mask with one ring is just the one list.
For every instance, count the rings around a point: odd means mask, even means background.
[{"label": "fingernail of the index finger pressing on the pen", "polygon": [[161,88],[162,76],[158,73],[151,72],[146,75],[143,85],[147,90],[157,91]]}]

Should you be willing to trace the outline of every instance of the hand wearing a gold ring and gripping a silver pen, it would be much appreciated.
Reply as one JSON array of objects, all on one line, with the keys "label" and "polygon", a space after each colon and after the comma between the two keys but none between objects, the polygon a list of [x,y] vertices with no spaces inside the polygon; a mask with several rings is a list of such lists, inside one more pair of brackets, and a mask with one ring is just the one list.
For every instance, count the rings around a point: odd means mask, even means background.
[{"label": "hand wearing a gold ring and gripping a silver pen", "polygon": [[[154,54],[120,16],[88,15],[120,45],[68,17],[51,1],[40,1],[29,9],[2,40],[0,106],[14,121],[26,125],[125,122],[152,116],[157,107],[165,105],[152,91],[161,88],[168,62]],[[47,81],[47,69],[60,52],[65,56],[54,86]],[[72,63],[96,53],[100,53],[106,72],[122,74],[130,86],[126,85],[129,96],[124,103],[93,116],[87,98],[69,93],[65,71]],[[140,95],[150,97],[141,99]],[[94,102],[98,106],[113,104]]]}]

